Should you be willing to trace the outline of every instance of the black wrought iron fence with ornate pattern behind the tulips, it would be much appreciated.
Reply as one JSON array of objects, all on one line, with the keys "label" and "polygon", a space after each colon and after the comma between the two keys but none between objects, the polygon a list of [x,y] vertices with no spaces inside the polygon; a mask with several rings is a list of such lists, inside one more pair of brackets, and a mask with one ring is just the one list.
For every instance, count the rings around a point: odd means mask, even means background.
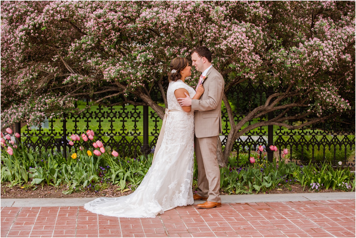
[{"label": "black wrought iron fence with ornate pattern behind the tulips", "polygon": [[[166,85],[167,87],[167,85]],[[158,87],[155,89],[158,91]],[[160,93],[153,90],[155,100],[159,100]],[[233,105],[235,121],[241,120],[249,110],[265,102],[266,97],[273,93],[263,83],[246,82],[239,84],[227,93],[227,98]],[[77,105],[80,109],[85,105]],[[273,113],[255,121],[273,118]],[[223,134],[220,135],[221,144],[226,144],[230,131],[226,109],[222,109]],[[292,123],[292,122],[291,122]],[[40,126],[21,130],[20,123],[16,124],[16,132],[21,134],[23,144],[33,150],[61,151],[67,157],[68,151],[78,150],[79,146],[91,146],[83,141],[70,146],[68,141],[72,134],[82,134],[88,129],[94,130],[95,140],[101,140],[105,146],[117,150],[120,154],[137,156],[148,154],[154,150],[162,120],[148,106],[122,105],[105,108],[94,105],[89,110],[77,115],[63,115],[61,118],[48,120],[48,127]],[[93,141],[91,141],[93,143]],[[287,148],[290,151],[290,160],[323,162],[325,160],[337,165],[355,166],[355,131],[337,133],[325,128],[303,128],[288,130],[276,126],[263,126],[251,130],[234,142],[232,151],[250,155],[259,145],[268,147],[276,145],[279,149]],[[273,156],[273,154],[270,154]],[[280,155],[279,155],[280,156]]]}]

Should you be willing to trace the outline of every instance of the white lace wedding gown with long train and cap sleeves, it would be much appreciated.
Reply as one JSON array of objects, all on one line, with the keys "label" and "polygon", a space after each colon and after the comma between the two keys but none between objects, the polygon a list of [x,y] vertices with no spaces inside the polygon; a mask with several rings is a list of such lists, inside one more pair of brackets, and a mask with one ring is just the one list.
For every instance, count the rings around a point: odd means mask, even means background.
[{"label": "white lace wedding gown with long train and cap sleeves", "polygon": [[195,90],[183,81],[169,83],[165,133],[161,147],[143,178],[140,186],[124,197],[100,197],[86,203],[90,212],[112,217],[155,217],[178,206],[194,203],[193,181],[193,141],[194,113],[186,113],[179,106],[174,91],[188,90],[190,98]]}]

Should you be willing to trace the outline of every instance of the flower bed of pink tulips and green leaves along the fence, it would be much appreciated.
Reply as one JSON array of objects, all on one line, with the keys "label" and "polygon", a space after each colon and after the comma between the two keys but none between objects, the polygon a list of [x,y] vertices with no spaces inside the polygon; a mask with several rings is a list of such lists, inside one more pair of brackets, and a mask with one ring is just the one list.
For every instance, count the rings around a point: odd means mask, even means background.
[{"label": "flower bed of pink tulips and green leaves along the fence", "polygon": [[[12,134],[12,131],[9,129],[7,133]],[[152,154],[147,158],[120,157],[100,141],[92,144],[90,140],[93,136],[91,130],[81,137],[72,135],[71,139],[77,140],[80,147],[79,150],[72,148],[70,158],[65,159],[60,153],[25,151],[22,146],[17,148],[9,136],[5,136],[5,140],[1,135],[1,183],[32,190],[49,185],[61,188],[66,195],[83,191],[99,192],[112,185],[120,192],[135,190],[152,164]],[[277,150],[275,146],[271,149]],[[299,184],[303,190],[315,192],[322,189],[353,191],[355,188],[355,174],[348,167],[334,168],[326,162],[321,167],[286,163],[284,157],[288,154],[287,149],[283,149],[279,162],[275,159],[271,163],[266,161],[263,146],[259,146],[258,151],[259,155],[251,156],[247,165],[238,166],[234,157],[231,157],[229,165],[220,168],[220,187],[223,192],[259,193],[295,184]],[[196,163],[194,177],[197,177]],[[193,181],[193,189],[195,186],[196,182]]]}]

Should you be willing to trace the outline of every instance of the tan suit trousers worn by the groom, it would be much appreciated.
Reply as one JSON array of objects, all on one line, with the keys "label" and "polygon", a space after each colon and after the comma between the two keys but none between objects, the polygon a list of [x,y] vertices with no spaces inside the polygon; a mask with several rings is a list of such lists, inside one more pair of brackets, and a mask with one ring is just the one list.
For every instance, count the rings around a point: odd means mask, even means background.
[{"label": "tan suit trousers worn by the groom", "polygon": [[220,169],[216,159],[217,140],[218,135],[203,138],[194,136],[194,150],[198,164],[197,195],[208,197],[208,201],[211,202],[221,202]]}]

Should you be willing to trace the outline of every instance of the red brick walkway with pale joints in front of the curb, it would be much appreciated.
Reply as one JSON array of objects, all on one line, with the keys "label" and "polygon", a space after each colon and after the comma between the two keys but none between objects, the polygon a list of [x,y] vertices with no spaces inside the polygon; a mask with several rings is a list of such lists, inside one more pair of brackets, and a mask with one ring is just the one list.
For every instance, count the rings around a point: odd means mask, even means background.
[{"label": "red brick walkway with pale joints in front of the curb", "polygon": [[83,207],[1,207],[1,237],[355,237],[355,199],[186,206],[141,219]]}]

